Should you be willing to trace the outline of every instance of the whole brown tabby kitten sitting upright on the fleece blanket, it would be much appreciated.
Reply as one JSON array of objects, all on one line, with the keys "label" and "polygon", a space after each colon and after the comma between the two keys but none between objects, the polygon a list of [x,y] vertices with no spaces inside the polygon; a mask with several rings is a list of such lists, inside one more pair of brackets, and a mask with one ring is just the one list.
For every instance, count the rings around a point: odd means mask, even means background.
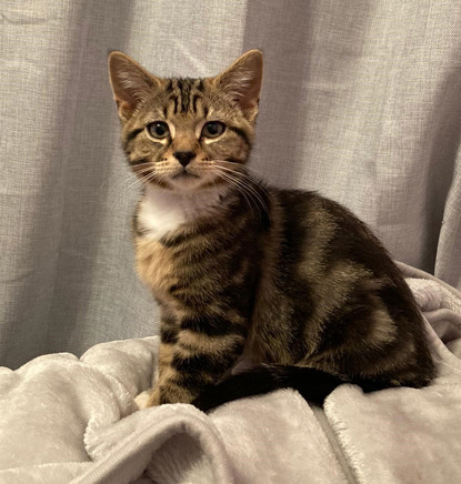
[{"label": "whole brown tabby kitten sitting upright on the fleece blanket", "polygon": [[[143,182],[137,269],[161,312],[148,406],[209,410],[284,386],[322,403],[343,382],[431,381],[421,315],[370,230],[331,200],[248,173],[261,52],[206,79],[161,79],[121,52],[109,71]],[[229,376],[242,355],[252,369]]]}]

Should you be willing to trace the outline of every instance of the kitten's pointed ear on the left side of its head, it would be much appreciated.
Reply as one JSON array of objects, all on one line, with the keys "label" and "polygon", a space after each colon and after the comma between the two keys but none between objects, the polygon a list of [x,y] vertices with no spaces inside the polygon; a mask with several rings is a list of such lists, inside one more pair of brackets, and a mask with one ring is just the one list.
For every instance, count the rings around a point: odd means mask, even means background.
[{"label": "kitten's pointed ear on the left side of its head", "polygon": [[127,120],[138,104],[161,87],[161,80],[122,52],[109,56],[109,78],[119,117]]}]

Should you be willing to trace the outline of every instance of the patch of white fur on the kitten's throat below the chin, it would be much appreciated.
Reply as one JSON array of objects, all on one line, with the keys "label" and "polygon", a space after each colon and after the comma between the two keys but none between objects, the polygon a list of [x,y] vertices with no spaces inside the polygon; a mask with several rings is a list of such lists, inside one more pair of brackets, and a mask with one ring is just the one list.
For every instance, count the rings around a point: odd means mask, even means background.
[{"label": "patch of white fur on the kitten's throat below the chin", "polygon": [[199,216],[219,210],[224,189],[178,193],[147,186],[138,221],[147,236],[159,240]]}]

